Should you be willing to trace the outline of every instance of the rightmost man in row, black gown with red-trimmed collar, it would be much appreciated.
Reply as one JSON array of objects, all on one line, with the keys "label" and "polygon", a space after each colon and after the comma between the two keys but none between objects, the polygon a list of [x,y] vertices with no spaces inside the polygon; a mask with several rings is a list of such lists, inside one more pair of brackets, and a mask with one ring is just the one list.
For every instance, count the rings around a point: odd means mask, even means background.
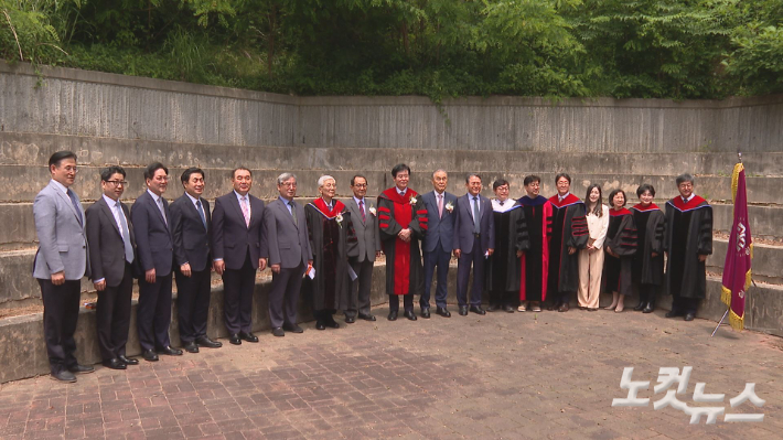
[{"label": "rightmost man in row, black gown with red-trimmed collar", "polygon": [[666,202],[664,251],[666,291],[672,296],[672,311],[666,318],[683,316],[693,321],[699,301],[707,293],[705,261],[712,254],[712,207],[694,194],[694,176],[677,176],[679,195]]}]

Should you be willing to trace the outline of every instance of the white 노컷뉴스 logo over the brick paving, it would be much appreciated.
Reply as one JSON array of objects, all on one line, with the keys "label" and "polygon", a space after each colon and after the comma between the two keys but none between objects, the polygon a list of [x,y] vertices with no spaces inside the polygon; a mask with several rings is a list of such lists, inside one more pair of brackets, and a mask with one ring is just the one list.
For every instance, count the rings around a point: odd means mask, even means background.
[{"label": "white \ub178\ucef7\ub274\uc2a4 logo over the brick paving", "polygon": [[[658,384],[653,388],[654,394],[666,391],[666,395],[653,403],[653,409],[658,410],[671,406],[690,416],[690,425],[698,425],[701,416],[707,417],[707,425],[712,425],[718,419],[718,416],[723,415],[723,421],[763,421],[764,414],[725,414],[726,407],[691,407],[688,404],[677,399],[677,395],[685,394],[688,388],[688,380],[694,367],[683,367],[683,373],[679,373],[677,367],[661,367],[658,369]],[[632,380],[633,367],[623,368],[623,376],[620,379],[620,388],[628,389],[628,397],[614,398],[613,407],[646,407],[650,405],[650,398],[640,398],[639,391],[650,388],[650,380]],[[677,389],[668,389],[672,385],[677,384]],[[707,384],[699,382],[694,389],[694,401],[697,403],[720,403],[726,397],[725,394],[706,394],[705,387]],[[739,396],[729,399],[731,408],[737,408],[747,400],[750,400],[755,407],[763,407],[765,400],[755,395],[755,384],[747,383],[742,393]]]}]

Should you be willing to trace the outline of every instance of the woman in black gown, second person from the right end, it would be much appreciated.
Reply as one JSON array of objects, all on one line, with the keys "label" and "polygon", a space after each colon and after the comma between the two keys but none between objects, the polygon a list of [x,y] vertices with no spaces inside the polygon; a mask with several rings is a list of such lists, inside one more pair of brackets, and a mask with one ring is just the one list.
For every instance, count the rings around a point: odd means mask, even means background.
[{"label": "woman in black gown, second person from the right end", "polygon": [[652,313],[655,296],[664,278],[664,213],[653,203],[655,187],[644,183],[636,190],[641,203],[631,208],[636,223],[636,255],[633,257],[633,281],[639,286],[639,305],[633,310]]}]

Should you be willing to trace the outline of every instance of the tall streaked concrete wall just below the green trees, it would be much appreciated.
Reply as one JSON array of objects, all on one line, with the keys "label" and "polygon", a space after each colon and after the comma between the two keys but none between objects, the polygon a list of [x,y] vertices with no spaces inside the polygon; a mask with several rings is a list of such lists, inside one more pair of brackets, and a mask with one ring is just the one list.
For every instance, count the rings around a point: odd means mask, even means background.
[{"label": "tall streaked concrete wall just below the green trees", "polygon": [[223,146],[780,151],[783,96],[727,100],[292,97],[0,64],[0,131]]}]

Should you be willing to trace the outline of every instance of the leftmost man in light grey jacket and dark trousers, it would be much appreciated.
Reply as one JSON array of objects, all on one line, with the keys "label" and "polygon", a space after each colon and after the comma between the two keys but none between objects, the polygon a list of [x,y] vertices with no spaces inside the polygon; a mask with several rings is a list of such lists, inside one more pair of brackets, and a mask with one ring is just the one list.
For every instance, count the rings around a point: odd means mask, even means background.
[{"label": "leftmost man in light grey jacket and dark trousers", "polygon": [[76,382],[74,373],[92,373],[92,366],[76,362],[76,320],[82,296],[82,277],[89,276],[84,210],[71,190],[76,173],[76,154],[57,151],[49,158],[52,180],[35,196],[33,215],[39,250],[33,277],[41,286],[43,331],[52,377]]}]

